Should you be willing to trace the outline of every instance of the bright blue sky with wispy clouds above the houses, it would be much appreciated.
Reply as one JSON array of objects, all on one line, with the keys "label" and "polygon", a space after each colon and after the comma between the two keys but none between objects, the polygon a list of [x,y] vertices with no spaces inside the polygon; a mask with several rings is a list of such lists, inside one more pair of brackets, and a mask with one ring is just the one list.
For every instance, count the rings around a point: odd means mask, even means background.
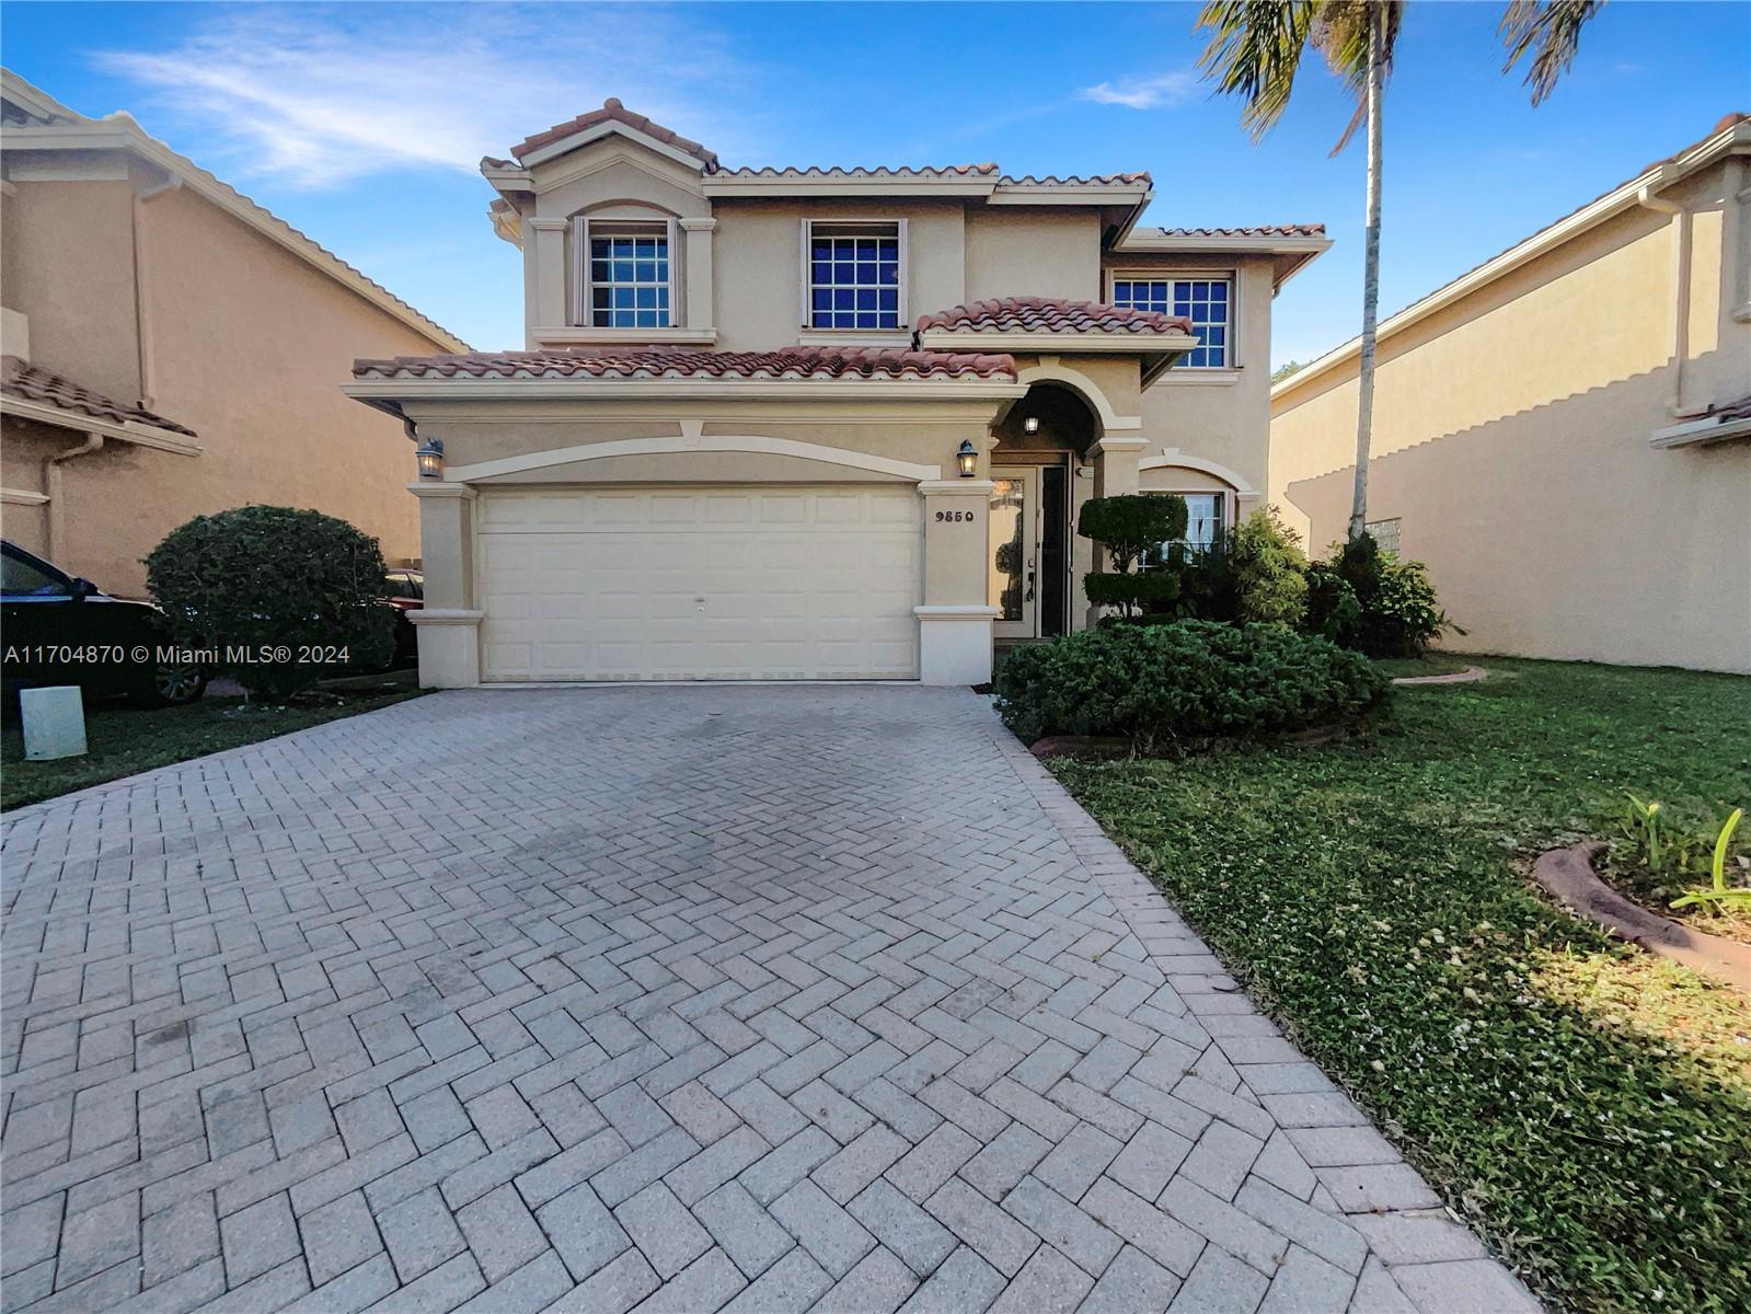
[{"label": "bright blue sky with wispy clouds above the houses", "polygon": [[[1555,98],[1502,77],[1501,4],[1417,0],[1385,119],[1397,308],[1751,109],[1751,4],[1604,9]],[[4,5],[7,67],[130,110],[476,347],[520,347],[482,154],[618,95],[730,165],[1147,168],[1152,224],[1326,223],[1276,363],[1352,336],[1362,152],[1319,65],[1254,144],[1198,82],[1185,4]],[[1026,289],[1017,289],[1026,291]]]}]

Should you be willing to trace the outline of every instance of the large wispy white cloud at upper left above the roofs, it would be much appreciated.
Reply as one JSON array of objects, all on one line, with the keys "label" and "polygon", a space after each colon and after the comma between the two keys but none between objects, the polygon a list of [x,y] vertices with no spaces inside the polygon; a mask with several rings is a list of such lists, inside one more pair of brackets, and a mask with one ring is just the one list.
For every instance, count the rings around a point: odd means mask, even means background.
[{"label": "large wispy white cloud at upper left above the roofs", "polygon": [[[746,145],[749,70],[657,5],[361,5],[210,11],[182,44],[100,51],[242,173],[320,187],[482,156],[620,96],[716,151]],[[695,11],[697,14],[697,11]]]}]

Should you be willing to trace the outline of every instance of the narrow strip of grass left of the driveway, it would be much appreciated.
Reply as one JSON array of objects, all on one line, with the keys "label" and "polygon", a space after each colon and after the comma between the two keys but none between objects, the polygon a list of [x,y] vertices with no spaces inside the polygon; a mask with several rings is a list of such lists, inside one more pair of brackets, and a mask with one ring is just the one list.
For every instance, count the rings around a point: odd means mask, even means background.
[{"label": "narrow strip of grass left of the driveway", "polygon": [[284,706],[271,701],[249,706],[243,699],[226,697],[205,697],[187,708],[96,706],[86,710],[89,752],[54,762],[26,762],[23,732],[16,722],[7,722],[0,731],[0,809],[42,802],[89,785],[355,717],[417,696],[418,690],[359,694],[334,706]]}]

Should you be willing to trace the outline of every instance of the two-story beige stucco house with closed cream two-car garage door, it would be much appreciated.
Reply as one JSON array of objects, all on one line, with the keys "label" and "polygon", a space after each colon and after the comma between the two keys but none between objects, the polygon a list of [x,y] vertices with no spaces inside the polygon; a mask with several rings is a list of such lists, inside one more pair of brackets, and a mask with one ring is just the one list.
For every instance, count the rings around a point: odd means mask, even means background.
[{"label": "two-story beige stucco house with closed cream two-car garage door", "polygon": [[616,100],[511,156],[527,350],[347,389],[443,449],[427,683],[982,682],[1087,624],[1087,498],[1184,492],[1205,534],[1262,499],[1320,228],[1138,228],[1145,173],[725,168]]}]

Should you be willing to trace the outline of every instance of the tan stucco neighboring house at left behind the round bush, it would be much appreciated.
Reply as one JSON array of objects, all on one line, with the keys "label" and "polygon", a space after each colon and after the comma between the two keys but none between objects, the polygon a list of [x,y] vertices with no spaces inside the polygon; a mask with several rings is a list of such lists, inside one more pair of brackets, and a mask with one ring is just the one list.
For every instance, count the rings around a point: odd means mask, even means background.
[{"label": "tan stucco neighboring house at left behind the round bush", "polygon": [[126,114],[0,72],[0,520],[144,594],[140,557],[245,503],[418,555],[411,443],[336,391],[361,354],[466,350]]}]

